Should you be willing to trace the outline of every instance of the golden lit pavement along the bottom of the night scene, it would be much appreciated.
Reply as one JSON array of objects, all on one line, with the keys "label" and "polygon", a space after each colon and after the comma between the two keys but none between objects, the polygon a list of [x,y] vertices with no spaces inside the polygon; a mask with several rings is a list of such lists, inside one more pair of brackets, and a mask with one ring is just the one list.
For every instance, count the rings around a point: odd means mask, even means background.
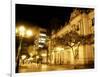
[{"label": "golden lit pavement along the bottom of the night scene", "polygon": [[47,64],[24,64],[19,67],[19,72],[42,72],[42,71],[57,71],[57,70],[73,70],[90,68],[83,65],[47,65]]}]

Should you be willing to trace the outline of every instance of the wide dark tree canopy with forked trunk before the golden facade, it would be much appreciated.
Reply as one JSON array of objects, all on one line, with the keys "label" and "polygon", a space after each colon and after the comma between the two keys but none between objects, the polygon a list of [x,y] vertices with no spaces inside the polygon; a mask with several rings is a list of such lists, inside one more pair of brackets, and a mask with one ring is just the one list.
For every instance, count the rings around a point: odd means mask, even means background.
[{"label": "wide dark tree canopy with forked trunk before the golden facade", "polygon": [[66,33],[62,37],[56,37],[54,38],[54,47],[56,46],[64,46],[69,47],[72,49],[73,58],[74,61],[79,58],[79,46],[80,45],[90,45],[94,43],[94,35],[88,34],[88,35],[79,35],[76,31],[71,31],[69,33]]}]

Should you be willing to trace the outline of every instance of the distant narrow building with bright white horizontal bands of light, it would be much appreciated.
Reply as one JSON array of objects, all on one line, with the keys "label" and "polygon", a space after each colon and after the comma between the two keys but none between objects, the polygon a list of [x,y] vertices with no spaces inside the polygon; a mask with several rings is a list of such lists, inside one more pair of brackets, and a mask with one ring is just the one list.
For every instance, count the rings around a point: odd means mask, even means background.
[{"label": "distant narrow building with bright white horizontal bands of light", "polygon": [[47,31],[46,29],[40,28],[37,39],[37,52],[39,57],[41,57],[41,63],[47,63],[48,49],[46,43],[47,43]]}]

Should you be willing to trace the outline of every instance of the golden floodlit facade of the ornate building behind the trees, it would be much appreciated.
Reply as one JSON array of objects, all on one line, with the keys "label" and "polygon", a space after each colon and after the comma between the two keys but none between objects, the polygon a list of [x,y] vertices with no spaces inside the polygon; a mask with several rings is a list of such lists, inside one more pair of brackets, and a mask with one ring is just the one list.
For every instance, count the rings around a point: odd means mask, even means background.
[{"label": "golden floodlit facade of the ornate building behind the trees", "polygon": [[[71,13],[69,23],[65,24],[56,34],[53,34],[52,39],[63,37],[66,33],[71,31],[75,31],[79,35],[84,36],[94,34],[94,10],[84,11],[75,9]],[[51,49],[54,50],[55,48],[51,46]],[[76,50],[76,47],[74,47],[73,50]],[[61,52],[52,52],[51,58],[52,64],[89,64],[94,62],[94,44],[80,45],[77,60],[74,60],[71,48],[65,47]]]}]

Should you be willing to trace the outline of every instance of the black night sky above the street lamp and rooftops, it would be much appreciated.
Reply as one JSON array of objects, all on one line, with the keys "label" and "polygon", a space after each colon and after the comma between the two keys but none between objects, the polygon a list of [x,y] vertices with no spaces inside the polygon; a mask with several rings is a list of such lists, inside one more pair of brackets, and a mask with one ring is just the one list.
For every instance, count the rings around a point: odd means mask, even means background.
[{"label": "black night sky above the street lamp and rooftops", "polygon": [[16,23],[29,22],[46,29],[59,28],[69,20],[72,8],[16,4]]}]

